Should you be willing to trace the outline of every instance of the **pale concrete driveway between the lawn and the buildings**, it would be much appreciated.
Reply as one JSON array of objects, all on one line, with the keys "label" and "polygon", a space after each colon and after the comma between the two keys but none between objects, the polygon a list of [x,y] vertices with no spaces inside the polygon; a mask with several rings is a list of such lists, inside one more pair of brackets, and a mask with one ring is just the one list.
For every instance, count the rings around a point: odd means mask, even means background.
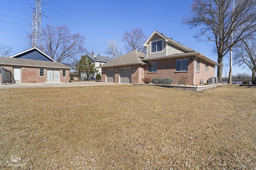
[{"label": "pale concrete driveway between the lawn and the buildings", "polygon": [[110,83],[110,82],[45,82],[45,83],[14,83],[14,84],[0,84],[0,89],[7,88],[37,88],[37,87],[73,87],[73,86],[104,86],[104,85],[123,85],[130,83]]}]

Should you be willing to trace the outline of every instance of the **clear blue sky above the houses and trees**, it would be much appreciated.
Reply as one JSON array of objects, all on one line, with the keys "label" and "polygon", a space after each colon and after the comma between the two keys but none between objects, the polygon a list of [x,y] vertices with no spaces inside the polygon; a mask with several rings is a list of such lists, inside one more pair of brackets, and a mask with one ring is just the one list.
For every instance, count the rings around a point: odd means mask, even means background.
[{"label": "clear blue sky above the houses and trees", "polygon": [[[15,54],[30,49],[26,36],[32,31],[32,12],[36,0],[0,0],[0,43],[10,45]],[[198,42],[195,29],[182,24],[189,15],[192,0],[41,0],[42,27],[65,25],[72,33],[86,37],[84,47],[91,53],[106,56],[107,41],[123,45],[124,31],[142,27],[149,37],[154,30],[194,49],[217,62],[210,42]],[[47,4],[47,5],[46,5]],[[228,76],[229,56],[224,58],[223,74]],[[217,69],[215,70],[217,72]],[[233,67],[233,75],[250,70]]]}]

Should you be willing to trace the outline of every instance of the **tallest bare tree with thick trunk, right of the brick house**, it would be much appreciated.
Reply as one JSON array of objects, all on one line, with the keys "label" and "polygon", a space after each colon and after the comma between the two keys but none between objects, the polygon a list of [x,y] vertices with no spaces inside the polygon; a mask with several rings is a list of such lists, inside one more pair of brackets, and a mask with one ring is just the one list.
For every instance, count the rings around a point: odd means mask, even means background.
[{"label": "tallest bare tree with thick trunk, right of the brick house", "polygon": [[[233,3],[236,4],[234,8]],[[190,18],[185,18],[183,23],[198,28],[195,37],[200,41],[215,43],[220,64],[218,82],[222,83],[223,57],[256,29],[256,0],[194,0],[191,10]]]}]

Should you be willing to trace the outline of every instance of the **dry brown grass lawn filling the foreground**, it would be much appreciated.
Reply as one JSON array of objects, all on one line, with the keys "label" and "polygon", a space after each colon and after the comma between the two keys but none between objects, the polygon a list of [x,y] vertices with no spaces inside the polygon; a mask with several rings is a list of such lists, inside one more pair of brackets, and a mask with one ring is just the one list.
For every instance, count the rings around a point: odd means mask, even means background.
[{"label": "dry brown grass lawn filling the foreground", "polygon": [[[0,168],[256,169],[253,87],[192,92],[119,85],[0,93]],[[20,162],[11,162],[14,155]]]}]

